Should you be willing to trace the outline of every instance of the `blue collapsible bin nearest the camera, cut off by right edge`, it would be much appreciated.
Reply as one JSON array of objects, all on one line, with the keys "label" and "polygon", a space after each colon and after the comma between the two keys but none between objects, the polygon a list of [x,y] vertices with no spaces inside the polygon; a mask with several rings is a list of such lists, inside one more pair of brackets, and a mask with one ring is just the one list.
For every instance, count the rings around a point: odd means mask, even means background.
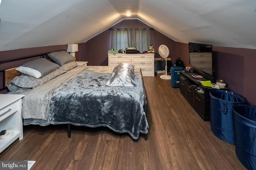
[{"label": "blue collapsible bin nearest the camera, cut off by right edge", "polygon": [[256,170],[256,106],[234,105],[236,156],[249,170]]}]

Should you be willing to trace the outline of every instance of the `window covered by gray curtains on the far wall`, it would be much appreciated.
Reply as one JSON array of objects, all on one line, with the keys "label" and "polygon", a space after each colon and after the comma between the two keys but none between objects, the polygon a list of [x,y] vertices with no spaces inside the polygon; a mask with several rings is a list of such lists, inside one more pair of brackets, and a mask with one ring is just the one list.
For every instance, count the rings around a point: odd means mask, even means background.
[{"label": "window covered by gray curtains on the far wall", "polygon": [[138,51],[148,51],[152,45],[151,29],[112,29],[111,47],[115,50],[136,47]]}]

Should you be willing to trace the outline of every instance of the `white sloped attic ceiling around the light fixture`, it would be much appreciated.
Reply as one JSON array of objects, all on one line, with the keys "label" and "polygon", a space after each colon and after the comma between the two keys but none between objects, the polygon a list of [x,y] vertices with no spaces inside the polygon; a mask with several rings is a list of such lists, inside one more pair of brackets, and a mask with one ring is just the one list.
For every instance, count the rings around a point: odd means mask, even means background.
[{"label": "white sloped attic ceiling around the light fixture", "polygon": [[127,18],[182,43],[256,49],[256,0],[2,0],[0,18],[0,51],[83,43]]}]

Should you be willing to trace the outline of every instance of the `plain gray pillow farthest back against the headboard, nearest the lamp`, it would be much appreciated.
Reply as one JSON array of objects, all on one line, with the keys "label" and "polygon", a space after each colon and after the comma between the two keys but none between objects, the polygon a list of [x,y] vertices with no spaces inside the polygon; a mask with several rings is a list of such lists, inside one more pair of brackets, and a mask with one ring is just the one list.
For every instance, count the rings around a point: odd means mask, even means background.
[{"label": "plain gray pillow farthest back against the headboard, nearest the lamp", "polygon": [[66,51],[55,51],[49,53],[48,57],[52,59],[55,63],[59,64],[59,66],[63,66],[66,63],[76,60],[75,57],[73,57]]}]

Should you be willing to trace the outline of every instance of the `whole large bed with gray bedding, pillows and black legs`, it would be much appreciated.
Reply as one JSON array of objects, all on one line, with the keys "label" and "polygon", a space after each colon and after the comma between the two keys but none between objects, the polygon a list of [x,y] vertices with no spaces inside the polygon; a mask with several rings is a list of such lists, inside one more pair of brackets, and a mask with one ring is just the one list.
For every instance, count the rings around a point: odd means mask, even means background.
[{"label": "whole large bed with gray bedding, pillows and black legs", "polygon": [[24,125],[67,124],[68,137],[70,125],[104,126],[117,133],[129,133],[133,139],[142,133],[147,140],[147,98],[141,70],[125,63],[116,67],[77,66],[74,57],[71,61],[60,61],[71,56],[68,55],[66,51],[42,55],[52,61],[42,57],[15,70],[30,67],[37,60],[39,65],[46,61],[47,65],[54,63],[54,68],[47,68],[47,72],[38,68],[41,76],[19,70],[20,76],[6,82],[8,94],[25,95]]}]

